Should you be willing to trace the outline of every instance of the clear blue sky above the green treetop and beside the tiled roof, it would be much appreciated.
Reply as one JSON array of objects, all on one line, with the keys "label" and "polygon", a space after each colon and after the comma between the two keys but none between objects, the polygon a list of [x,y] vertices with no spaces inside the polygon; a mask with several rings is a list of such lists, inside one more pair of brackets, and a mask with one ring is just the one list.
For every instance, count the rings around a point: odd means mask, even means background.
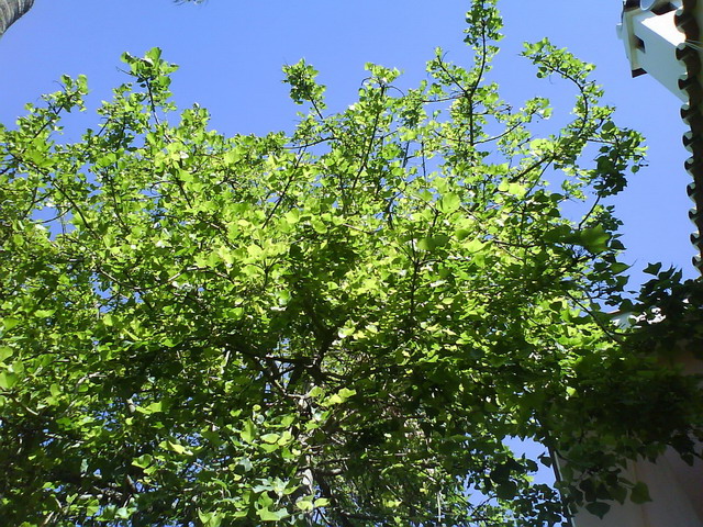
[{"label": "clear blue sky above the green treetop and beside the tiled roof", "polygon": [[[559,108],[571,102],[565,85],[533,80],[517,56],[523,41],[548,36],[596,65],[595,78],[606,102],[617,106],[618,122],[648,139],[649,166],[614,202],[634,280],[641,280],[638,271],[649,261],[695,277],[680,103],[654,79],[631,78],[615,34],[621,2],[502,0],[500,5],[506,38],[494,77],[509,102],[520,105],[535,94],[554,98]],[[36,0],[0,40],[0,122],[11,124],[25,102],[55,90],[63,74],[88,75],[94,109],[125,80],[118,69],[122,52],[141,56],[159,46],[181,67],[172,85],[180,106],[207,106],[213,127],[227,134],[291,130],[297,108],[280,82],[281,65],[304,57],[328,86],[332,109],[344,108],[354,102],[366,61],[398,67],[405,72],[402,82],[412,86],[436,46],[449,59],[466,60],[461,32],[468,7],[468,0],[209,0],[203,5]]]}]

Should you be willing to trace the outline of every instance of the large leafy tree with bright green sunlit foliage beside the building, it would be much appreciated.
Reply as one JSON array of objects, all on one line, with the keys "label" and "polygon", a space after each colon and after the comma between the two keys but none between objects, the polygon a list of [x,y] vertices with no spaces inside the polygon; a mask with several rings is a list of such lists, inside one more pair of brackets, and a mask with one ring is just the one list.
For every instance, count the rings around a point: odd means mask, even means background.
[{"label": "large leafy tree with bright green sunlit foliage beside the building", "polygon": [[401,90],[368,65],[336,113],[287,66],[290,135],[175,113],[158,49],[79,142],[82,77],[1,128],[7,525],[555,525],[643,500],[628,460],[694,455],[694,380],[604,312],[626,266],[602,202],[640,136],[547,41],[524,55],[577,101],[537,136],[548,101],[487,80],[494,2],[467,22],[469,67],[437,51]]}]

